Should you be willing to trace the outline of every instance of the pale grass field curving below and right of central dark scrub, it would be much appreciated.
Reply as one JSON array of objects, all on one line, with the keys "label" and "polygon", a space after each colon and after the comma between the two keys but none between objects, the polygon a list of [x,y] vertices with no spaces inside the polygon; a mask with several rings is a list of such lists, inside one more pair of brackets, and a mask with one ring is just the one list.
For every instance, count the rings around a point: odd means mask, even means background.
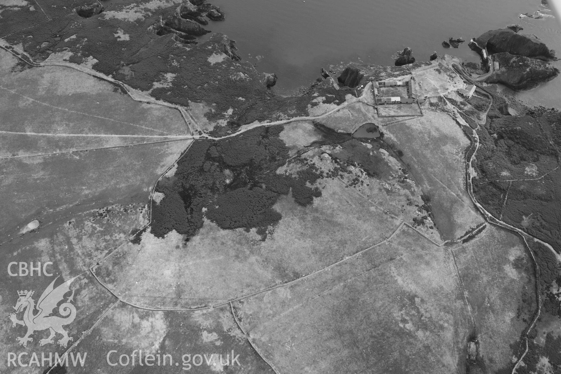
[{"label": "pale grass field curving below and right of central dark scrub", "polygon": [[[280,133],[291,152],[306,151],[302,144],[327,137],[307,122],[289,131],[302,134],[296,139]],[[426,217],[420,188],[406,178],[404,165],[379,147],[353,140],[308,148],[299,161],[280,167],[278,174],[297,175],[309,165],[323,175],[314,184],[321,197],[303,206],[291,194],[281,196],[273,209],[282,218],[266,227],[266,235],[255,228],[221,230],[207,218],[188,241],[175,231],[162,239],[144,233],[139,245],[123,246],[96,274],[138,305],[198,307],[327,267],[384,240],[401,222],[413,225]],[[424,222],[419,230],[441,241],[430,220]],[[166,289],[174,289],[174,297],[162,296]]]}]

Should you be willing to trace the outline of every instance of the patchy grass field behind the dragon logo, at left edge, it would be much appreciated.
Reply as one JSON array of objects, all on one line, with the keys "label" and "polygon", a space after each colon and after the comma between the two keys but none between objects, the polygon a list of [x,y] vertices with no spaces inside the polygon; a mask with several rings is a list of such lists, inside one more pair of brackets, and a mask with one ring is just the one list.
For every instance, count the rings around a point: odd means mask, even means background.
[{"label": "patchy grass field behind the dragon logo, at left edge", "polygon": [[[125,213],[124,207],[121,209],[112,207],[113,212],[109,213],[107,218],[98,217],[99,211],[88,211],[72,214],[71,221],[67,221],[67,216],[54,218],[52,221],[45,220],[36,230],[22,236],[13,235],[10,241],[2,243],[0,263],[6,264],[6,267],[12,261],[27,264],[33,262],[34,266],[38,261],[42,264],[52,261],[53,264],[48,265],[47,270],[53,276],[48,277],[44,274],[37,276],[35,272],[33,277],[10,277],[6,271],[2,272],[0,281],[3,287],[0,289],[0,297],[3,303],[0,311],[2,315],[6,316],[6,321],[0,326],[0,334],[2,334],[0,354],[3,354],[4,357],[7,357],[8,352],[16,354],[36,352],[39,357],[42,353],[45,353],[47,357],[49,353],[61,354],[77,342],[81,333],[93,326],[103,313],[117,301],[88,272],[88,267],[109,247],[116,245],[119,240],[126,240],[126,232],[143,221],[139,208],[138,205],[128,205],[126,207],[128,213]],[[94,219],[94,215],[98,218]],[[6,236],[3,239],[6,239]],[[12,270],[17,273],[17,265],[13,266]],[[16,305],[18,299],[17,291],[22,289],[34,291],[33,299],[38,302],[44,289],[57,275],[60,275],[61,278],[57,280],[55,286],[58,286],[63,280],[79,276],[70,287],[74,290],[72,303],[76,307],[76,319],[65,326],[65,330],[68,331],[68,335],[73,338],[73,341],[67,347],[59,347],[56,342],[62,335],[57,334],[54,344],[41,346],[39,340],[46,338],[49,334],[48,331],[40,330],[33,334],[33,342],[28,343],[25,348],[21,347],[17,344],[16,337],[25,335],[25,326],[12,327],[8,320],[8,315],[14,312],[12,307]],[[69,296],[70,293],[66,295],[66,297]],[[17,317],[21,320],[21,313]],[[29,368],[8,368],[6,364],[5,360],[0,363],[0,371],[16,373],[27,370],[29,372]]]}]

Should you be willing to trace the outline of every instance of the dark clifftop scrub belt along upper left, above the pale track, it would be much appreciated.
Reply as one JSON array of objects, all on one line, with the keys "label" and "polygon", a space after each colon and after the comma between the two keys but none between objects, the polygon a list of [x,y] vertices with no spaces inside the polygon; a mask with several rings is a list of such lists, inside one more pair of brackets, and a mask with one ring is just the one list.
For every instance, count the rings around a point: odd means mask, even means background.
[{"label": "dark clifftop scrub belt along upper left, above the pale track", "polygon": [[[10,44],[21,43],[25,52],[37,61],[47,59],[53,52],[64,51],[72,53],[68,58],[72,63],[83,63],[93,57],[96,60],[93,69],[96,71],[137,90],[153,89],[150,95],[158,100],[186,107],[190,102],[214,104],[213,110],[205,116],[211,121],[227,119],[228,123],[218,126],[215,133],[211,132],[212,135],[232,133],[240,125],[257,120],[280,120],[287,115],[308,114],[308,104],[314,99],[312,90],[303,96],[274,95],[261,82],[262,74],[251,63],[240,61],[235,43],[226,35],[215,33],[209,40],[197,45],[177,43],[194,43],[195,40],[188,40],[189,35],[178,34],[177,30],[169,34],[163,30],[169,26],[161,25],[160,17],[167,20],[173,16],[175,5],[145,13],[144,18],[128,22],[112,17],[96,17],[93,13],[101,8],[91,8],[90,1],[76,2],[76,11],[64,8],[67,4],[62,4],[60,0],[53,2],[53,7],[46,10],[52,16],[48,22],[45,22],[42,12],[30,12],[24,8],[18,10],[15,16],[10,10],[4,11],[0,36],[5,36]],[[123,10],[127,5],[111,4],[111,10]],[[90,14],[91,17],[84,18]],[[115,37],[118,29],[135,38],[118,40]],[[33,38],[29,37],[31,35]],[[216,53],[225,53],[229,58],[211,65],[209,57]],[[166,73],[175,74],[171,85],[153,87],[153,82],[158,82]],[[344,101],[342,92],[320,86],[318,89],[330,95],[326,96],[326,102],[333,100],[341,104]],[[238,97],[244,100],[238,100]]]}]

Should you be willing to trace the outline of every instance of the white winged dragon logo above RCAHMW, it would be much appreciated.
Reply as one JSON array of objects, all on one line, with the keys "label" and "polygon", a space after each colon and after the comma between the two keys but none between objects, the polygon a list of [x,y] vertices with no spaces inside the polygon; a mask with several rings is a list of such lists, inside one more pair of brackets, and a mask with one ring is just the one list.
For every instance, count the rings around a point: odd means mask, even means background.
[{"label": "white winged dragon logo above RCAHMW", "polygon": [[[79,277],[80,275],[78,275]],[[60,275],[58,275],[60,277]],[[20,345],[27,347],[27,342],[33,342],[31,335],[35,331],[42,331],[49,329],[50,335],[47,339],[39,340],[39,345],[53,344],[53,338],[56,333],[62,335],[62,338],[58,340],[58,345],[65,347],[68,345],[69,341],[74,339],[68,336],[68,332],[62,328],[64,325],[71,324],[76,318],[76,307],[71,304],[74,297],[74,290],[72,289],[72,294],[67,298],[66,302],[63,302],[58,307],[58,313],[65,317],[53,316],[53,309],[57,307],[57,304],[62,301],[67,292],[70,292],[70,283],[77,277],[67,280],[65,283],[60,284],[57,288],[54,288],[54,282],[58,279],[54,278],[53,282],[49,284],[39,301],[37,306],[35,306],[35,301],[31,296],[33,296],[34,291],[18,291],[17,294],[19,299],[17,300],[16,306],[13,307],[16,312],[10,314],[10,319],[12,320],[12,327],[17,325],[22,325],[27,327],[27,334],[23,337],[16,338]],[[34,314],[34,311],[38,312]],[[16,313],[24,311],[24,319],[17,319]]]}]

